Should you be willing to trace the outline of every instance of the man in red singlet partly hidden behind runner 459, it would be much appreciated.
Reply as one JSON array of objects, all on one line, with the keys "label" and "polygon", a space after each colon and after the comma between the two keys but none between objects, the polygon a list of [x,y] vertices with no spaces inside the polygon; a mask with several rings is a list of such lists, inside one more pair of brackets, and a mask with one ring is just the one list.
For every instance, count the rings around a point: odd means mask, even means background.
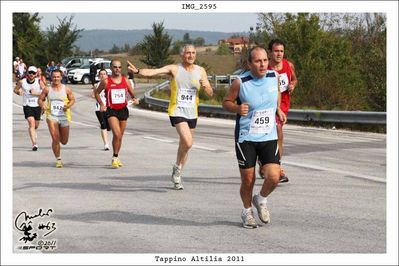
[{"label": "man in red singlet partly hidden behind runner 459", "polygon": [[[284,59],[284,48],[285,43],[282,40],[273,39],[269,42],[269,69],[275,70],[280,74],[280,108],[288,118],[288,110],[290,109],[290,96],[298,83],[298,79],[295,75],[294,65],[287,59]],[[283,156],[283,124],[280,123],[279,119],[276,119],[276,121],[281,166],[281,158]],[[282,167],[280,172],[280,182],[288,182],[288,177],[285,175]]]}]

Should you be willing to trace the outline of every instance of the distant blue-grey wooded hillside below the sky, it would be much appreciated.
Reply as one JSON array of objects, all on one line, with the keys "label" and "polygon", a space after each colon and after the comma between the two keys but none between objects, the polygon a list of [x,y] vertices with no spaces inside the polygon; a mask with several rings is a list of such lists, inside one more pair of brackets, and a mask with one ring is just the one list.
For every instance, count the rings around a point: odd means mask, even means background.
[{"label": "distant blue-grey wooded hillside below the sky", "polygon": [[[172,42],[182,40],[185,33],[190,34],[191,39],[202,37],[206,44],[217,44],[218,40],[226,39],[233,34],[247,36],[248,33],[226,33],[213,31],[188,31],[188,30],[169,30],[166,32],[172,37]],[[80,38],[75,45],[82,51],[94,49],[110,50],[114,44],[121,47],[126,43],[133,46],[140,42],[144,35],[152,34],[152,30],[84,30],[80,33]]]}]

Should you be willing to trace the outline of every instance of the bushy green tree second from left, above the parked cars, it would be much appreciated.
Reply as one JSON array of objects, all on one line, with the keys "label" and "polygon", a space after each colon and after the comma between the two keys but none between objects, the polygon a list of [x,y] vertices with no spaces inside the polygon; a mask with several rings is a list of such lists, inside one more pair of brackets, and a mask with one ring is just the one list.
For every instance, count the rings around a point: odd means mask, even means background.
[{"label": "bushy green tree second from left, above the parked cars", "polygon": [[47,55],[50,60],[61,61],[62,58],[73,54],[74,43],[79,38],[79,33],[83,29],[77,29],[72,22],[73,16],[60,19],[59,25],[51,25],[47,28]]}]

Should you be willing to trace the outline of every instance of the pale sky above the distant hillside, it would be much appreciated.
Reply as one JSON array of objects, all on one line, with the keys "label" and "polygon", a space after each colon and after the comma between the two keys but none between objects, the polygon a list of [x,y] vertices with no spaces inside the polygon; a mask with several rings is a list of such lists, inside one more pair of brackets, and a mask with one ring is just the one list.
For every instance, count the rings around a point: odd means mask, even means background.
[{"label": "pale sky above the distant hillside", "polygon": [[[85,30],[151,29],[154,22],[164,22],[166,29],[248,32],[258,22],[257,13],[40,13],[40,27],[57,26],[58,18],[73,17],[77,28]],[[58,17],[58,18],[57,18]]]}]

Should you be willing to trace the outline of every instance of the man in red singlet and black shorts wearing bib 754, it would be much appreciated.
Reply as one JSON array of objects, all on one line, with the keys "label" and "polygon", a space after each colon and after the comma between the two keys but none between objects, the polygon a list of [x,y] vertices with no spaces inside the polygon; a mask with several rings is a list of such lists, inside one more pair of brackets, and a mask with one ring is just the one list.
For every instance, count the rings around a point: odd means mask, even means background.
[{"label": "man in red singlet and black shorts wearing bib 754", "polygon": [[[126,77],[122,75],[122,64],[119,60],[111,61],[112,75],[101,81],[98,86],[95,97],[100,104],[100,111],[106,112],[108,123],[112,130],[112,167],[119,168],[122,166],[118,153],[121,149],[122,137],[125,132],[129,110],[127,109],[127,97],[130,94],[133,104],[139,104],[139,100],[134,96],[133,88]],[[105,90],[107,105],[101,101],[100,93]]]}]

